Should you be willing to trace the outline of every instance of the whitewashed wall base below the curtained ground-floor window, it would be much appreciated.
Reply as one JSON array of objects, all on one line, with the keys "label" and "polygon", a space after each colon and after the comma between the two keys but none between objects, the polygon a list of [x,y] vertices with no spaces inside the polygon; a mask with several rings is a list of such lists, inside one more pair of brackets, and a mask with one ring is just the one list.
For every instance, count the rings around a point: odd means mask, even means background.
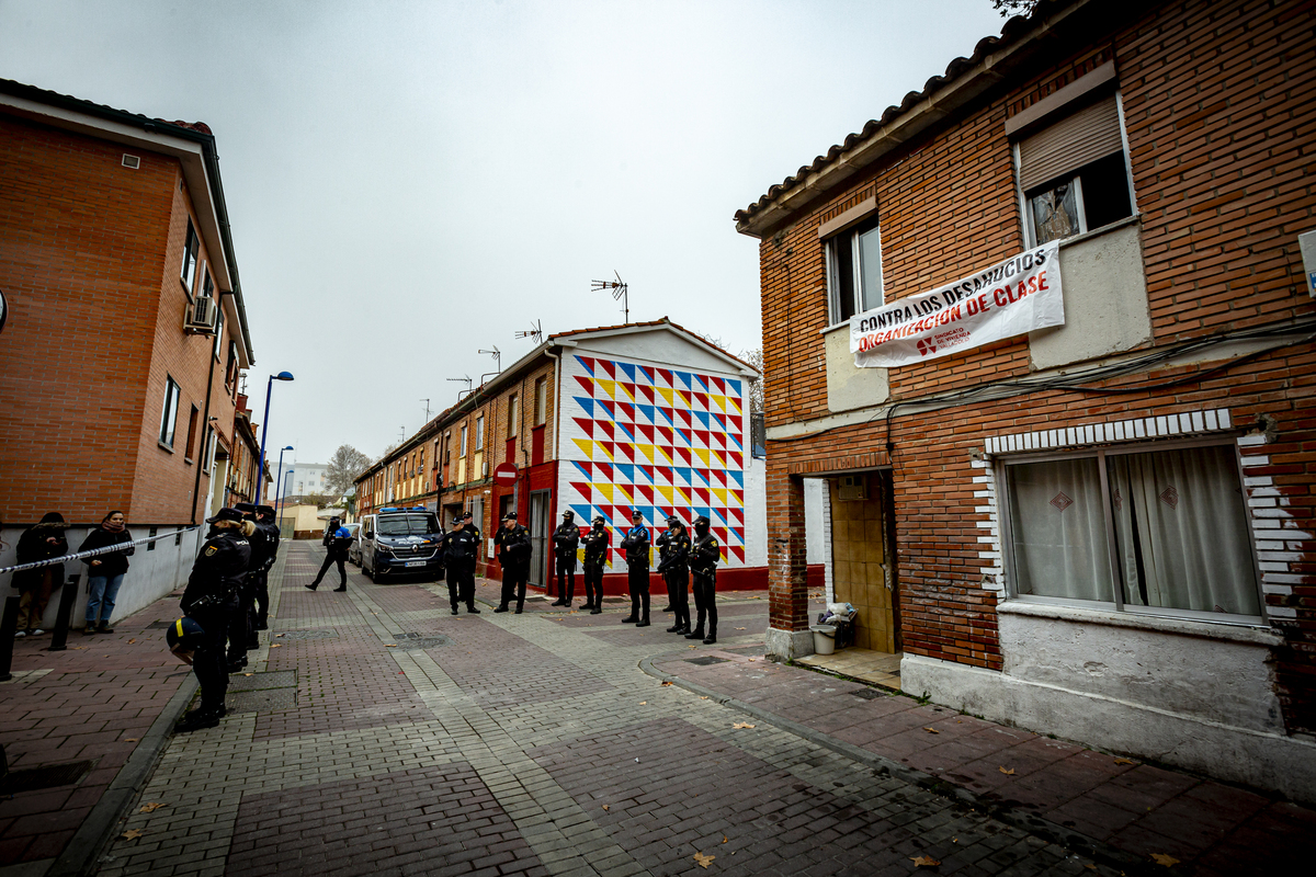
[{"label": "whitewashed wall base below the curtained ground-floor window", "polygon": [[901,688],[1087,746],[1316,801],[1316,743],[1284,734],[1265,627],[1007,602],[1001,672],[920,655]]}]

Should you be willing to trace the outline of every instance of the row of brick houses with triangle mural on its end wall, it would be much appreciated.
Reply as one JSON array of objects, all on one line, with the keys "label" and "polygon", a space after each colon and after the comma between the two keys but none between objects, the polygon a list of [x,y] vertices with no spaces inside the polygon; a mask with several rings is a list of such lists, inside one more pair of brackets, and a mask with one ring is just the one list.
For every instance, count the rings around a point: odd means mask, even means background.
[{"label": "row of brick houses with triangle mural on its end wall", "polygon": [[[719,586],[767,580],[763,463],[750,448],[750,383],[758,372],[670,320],[550,335],[433,418],[357,481],[357,514],[425,506],[445,525],[474,513],[487,536],[479,575],[501,577],[492,535],[516,509],[530,529],[530,584],[557,593],[549,536],[563,511],[580,526],[601,514],[613,534],[604,586],[625,592],[616,548],[640,509],[707,514],[722,538]],[[500,485],[500,464],[517,468]],[[822,565],[812,575],[819,584]]]}]

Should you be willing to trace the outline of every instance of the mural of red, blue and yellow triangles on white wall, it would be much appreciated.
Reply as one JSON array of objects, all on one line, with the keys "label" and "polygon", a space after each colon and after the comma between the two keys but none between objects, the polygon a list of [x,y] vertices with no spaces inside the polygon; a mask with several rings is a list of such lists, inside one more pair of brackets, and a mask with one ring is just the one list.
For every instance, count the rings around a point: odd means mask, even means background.
[{"label": "mural of red, blue and yellow triangles on white wall", "polygon": [[[688,369],[565,358],[559,509],[588,526],[601,514],[617,548],[638,509],[654,538],[675,514],[707,515],[722,564],[745,563],[745,383]],[[654,556],[657,563],[657,552]]]}]

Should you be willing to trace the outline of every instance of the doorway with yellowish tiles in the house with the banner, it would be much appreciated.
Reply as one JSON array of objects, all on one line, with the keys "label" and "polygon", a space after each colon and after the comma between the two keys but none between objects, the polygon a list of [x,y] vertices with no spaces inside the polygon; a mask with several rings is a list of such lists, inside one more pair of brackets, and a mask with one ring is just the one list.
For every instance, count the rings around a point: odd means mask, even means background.
[{"label": "doorway with yellowish tiles in the house with the banner", "polygon": [[832,584],[836,602],[858,610],[854,644],[900,651],[891,477],[882,471],[828,480],[832,508]]}]

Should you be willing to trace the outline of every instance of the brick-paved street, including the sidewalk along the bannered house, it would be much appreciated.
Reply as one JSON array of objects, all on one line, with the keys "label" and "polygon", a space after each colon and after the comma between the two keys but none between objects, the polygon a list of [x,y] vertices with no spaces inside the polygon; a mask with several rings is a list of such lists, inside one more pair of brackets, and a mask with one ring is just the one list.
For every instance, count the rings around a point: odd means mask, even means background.
[{"label": "brick-paved street, including the sidewalk along the bannered house", "polygon": [[355,571],[312,593],[320,556],[290,547],[229,717],[168,742],[100,874],[1273,873],[1316,824],[767,663],[762,600],[726,596],[691,648],[622,605],[453,617],[442,585]]}]

